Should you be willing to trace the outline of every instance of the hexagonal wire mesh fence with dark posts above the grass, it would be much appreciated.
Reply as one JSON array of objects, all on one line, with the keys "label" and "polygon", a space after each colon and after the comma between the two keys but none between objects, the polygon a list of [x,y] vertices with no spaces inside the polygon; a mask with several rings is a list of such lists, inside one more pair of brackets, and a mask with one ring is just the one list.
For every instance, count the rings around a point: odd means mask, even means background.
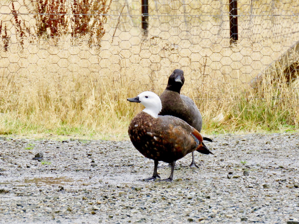
[{"label": "hexagonal wire mesh fence with dark posts above the grass", "polygon": [[1,79],[127,77],[160,91],[179,68],[196,99],[277,79],[298,98],[298,0],[3,0],[0,19]]}]

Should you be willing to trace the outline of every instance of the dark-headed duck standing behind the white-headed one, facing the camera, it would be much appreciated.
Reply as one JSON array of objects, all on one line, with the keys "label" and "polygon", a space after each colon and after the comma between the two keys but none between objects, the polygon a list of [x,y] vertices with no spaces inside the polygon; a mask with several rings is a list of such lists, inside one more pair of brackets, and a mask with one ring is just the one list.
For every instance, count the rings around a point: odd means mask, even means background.
[{"label": "dark-headed duck standing behind the white-headed one, facing the camera", "polygon": [[[169,76],[168,84],[160,99],[162,102],[162,110],[159,115],[171,115],[179,117],[197,131],[202,130],[202,115],[196,107],[195,103],[188,96],[181,95],[181,88],[184,85],[184,72],[176,69]],[[204,138],[206,141],[213,142],[209,138]],[[197,167],[194,152],[192,152],[192,162],[190,168]]]}]

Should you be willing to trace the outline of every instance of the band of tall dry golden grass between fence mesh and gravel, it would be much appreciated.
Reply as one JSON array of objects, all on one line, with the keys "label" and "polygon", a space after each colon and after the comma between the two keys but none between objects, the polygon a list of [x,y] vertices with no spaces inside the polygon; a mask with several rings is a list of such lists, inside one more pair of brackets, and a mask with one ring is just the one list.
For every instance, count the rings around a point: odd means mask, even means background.
[{"label": "band of tall dry golden grass between fence mesh and gravel", "polygon": [[[142,110],[142,105],[129,103],[126,98],[153,86],[160,94],[165,86],[157,85],[162,81],[155,77],[152,86],[136,88],[137,82],[144,81],[143,76],[126,70],[117,76],[109,74],[95,82],[91,75],[84,81],[65,81],[59,75],[24,79],[1,74],[0,133],[126,138],[130,120]],[[191,74],[186,75],[189,85],[184,85],[182,93],[196,101],[204,117],[204,133],[298,128],[299,90],[283,77],[280,72],[268,73],[257,88],[241,88],[239,80],[214,84]]]}]

